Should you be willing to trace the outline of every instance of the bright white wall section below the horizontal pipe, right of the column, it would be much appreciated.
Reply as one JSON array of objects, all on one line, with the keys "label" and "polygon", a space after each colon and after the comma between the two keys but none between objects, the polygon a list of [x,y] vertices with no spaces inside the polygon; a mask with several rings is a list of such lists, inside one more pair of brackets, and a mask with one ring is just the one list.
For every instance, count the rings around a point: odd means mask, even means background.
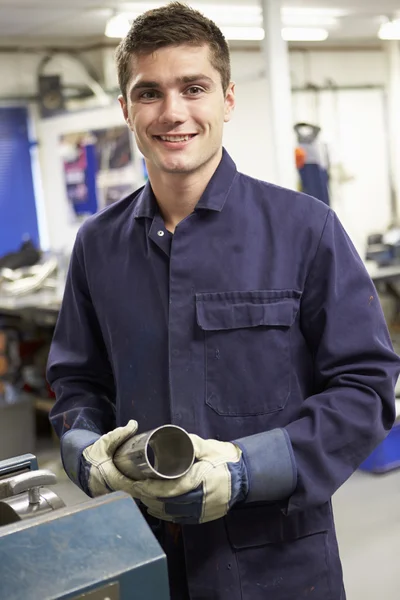
[{"label": "bright white wall section below the horizontal pipe, right of the column", "polygon": [[331,161],[331,203],[357,250],[364,254],[368,234],[391,221],[382,90],[339,90],[293,94],[298,121],[317,123]]}]

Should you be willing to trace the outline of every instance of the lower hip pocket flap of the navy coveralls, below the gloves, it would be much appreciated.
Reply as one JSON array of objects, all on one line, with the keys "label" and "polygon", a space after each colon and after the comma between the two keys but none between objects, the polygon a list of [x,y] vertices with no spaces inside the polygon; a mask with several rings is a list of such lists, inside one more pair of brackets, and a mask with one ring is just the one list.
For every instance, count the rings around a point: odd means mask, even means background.
[{"label": "lower hip pocket flap of the navy coveralls, below the gloves", "polygon": [[332,527],[329,504],[285,516],[277,505],[234,508],[225,517],[229,541],[240,550],[290,542],[328,531]]}]

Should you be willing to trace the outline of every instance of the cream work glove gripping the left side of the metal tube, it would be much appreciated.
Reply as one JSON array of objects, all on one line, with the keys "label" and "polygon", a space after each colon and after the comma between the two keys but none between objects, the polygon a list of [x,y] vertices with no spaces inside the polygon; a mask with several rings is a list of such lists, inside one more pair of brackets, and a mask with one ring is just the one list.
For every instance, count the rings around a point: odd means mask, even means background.
[{"label": "cream work glove gripping the left side of the metal tube", "polygon": [[113,429],[84,449],[79,479],[89,496],[94,498],[116,491],[132,495],[134,482],[117,469],[113,456],[117,448],[134,435],[137,429],[137,422],[131,420],[125,427]]}]

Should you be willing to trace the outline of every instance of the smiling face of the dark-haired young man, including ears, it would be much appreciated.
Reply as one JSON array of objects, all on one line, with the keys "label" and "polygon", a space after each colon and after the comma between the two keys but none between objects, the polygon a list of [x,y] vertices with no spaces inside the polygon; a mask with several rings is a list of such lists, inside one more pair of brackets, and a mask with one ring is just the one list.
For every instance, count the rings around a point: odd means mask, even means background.
[{"label": "smiling face of the dark-haired young man, including ears", "polygon": [[132,56],[127,101],[119,101],[150,178],[160,171],[188,175],[218,166],[234,84],[224,93],[209,55],[207,45],[180,45]]}]

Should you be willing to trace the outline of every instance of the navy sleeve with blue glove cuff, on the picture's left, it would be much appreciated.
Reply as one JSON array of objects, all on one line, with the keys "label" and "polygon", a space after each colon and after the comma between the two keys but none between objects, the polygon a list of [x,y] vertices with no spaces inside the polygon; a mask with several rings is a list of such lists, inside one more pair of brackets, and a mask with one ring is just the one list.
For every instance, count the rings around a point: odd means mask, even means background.
[{"label": "navy sleeve with blue glove cuff, on the picture's left", "polygon": [[114,379],[90,295],[80,233],[50,347],[47,380],[56,396],[50,422],[61,440],[64,468],[78,483],[83,450],[116,426]]}]

